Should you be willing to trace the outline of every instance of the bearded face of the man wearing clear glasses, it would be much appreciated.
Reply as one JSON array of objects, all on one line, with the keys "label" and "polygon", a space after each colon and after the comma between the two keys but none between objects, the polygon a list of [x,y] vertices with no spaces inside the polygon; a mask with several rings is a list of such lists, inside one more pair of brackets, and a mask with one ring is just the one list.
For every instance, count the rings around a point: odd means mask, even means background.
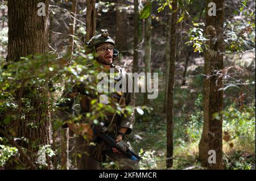
[{"label": "bearded face of the man wearing clear glasses", "polygon": [[97,61],[104,65],[111,65],[113,63],[114,46],[110,43],[101,43],[97,46],[96,52],[98,54]]}]

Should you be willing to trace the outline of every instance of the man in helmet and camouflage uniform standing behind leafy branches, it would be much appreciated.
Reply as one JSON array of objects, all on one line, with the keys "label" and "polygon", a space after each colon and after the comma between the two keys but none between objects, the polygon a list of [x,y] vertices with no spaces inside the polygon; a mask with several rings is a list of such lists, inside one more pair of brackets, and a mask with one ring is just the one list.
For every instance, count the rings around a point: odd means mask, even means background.
[{"label": "man in helmet and camouflage uniform standing behind leafy branches", "polygon": [[[114,46],[114,40],[109,37],[107,30],[103,30],[100,35],[92,37],[88,43],[88,47],[91,52],[96,52],[96,61],[104,66],[104,70],[109,72],[110,68],[114,68],[114,72],[118,73],[118,75],[114,78],[115,82],[117,82],[124,76],[127,76],[127,74],[119,66],[114,66],[112,64],[113,61],[118,58],[118,51],[114,49]],[[126,84],[126,87],[128,88],[128,84]],[[90,104],[92,98],[85,94],[84,86],[75,86],[73,87],[72,92],[66,90],[63,93],[65,98],[69,98],[65,104],[60,105],[60,107],[63,108],[60,113],[63,120],[67,119],[67,113],[72,114],[72,109],[75,102],[74,100],[77,99],[77,95],[80,96],[79,102],[81,113],[92,111]],[[114,92],[112,94],[112,98],[110,99],[110,102],[114,101],[119,103],[121,107],[135,106],[134,92]],[[98,101],[100,102],[99,98]],[[115,142],[125,140],[127,141],[127,144],[130,145],[126,135],[133,131],[133,124],[135,121],[134,110],[126,116],[120,116],[117,114],[113,115],[113,113],[109,113],[106,116],[108,119],[103,121],[106,126],[108,126],[110,136],[114,138]],[[76,140],[77,150],[81,154],[81,158],[77,159],[78,169],[101,169],[100,163],[106,161],[106,155],[112,159],[112,161],[118,164],[119,169],[139,169],[137,161],[132,161],[130,158],[127,158],[125,154],[120,153],[115,148],[109,148],[104,141],[94,135],[92,141],[96,142],[96,146],[90,146],[88,144],[89,142],[83,137],[83,134],[86,132],[85,130],[88,131],[88,124],[81,123],[77,126],[77,124],[72,123],[68,124],[68,127],[73,132],[80,135]]]}]

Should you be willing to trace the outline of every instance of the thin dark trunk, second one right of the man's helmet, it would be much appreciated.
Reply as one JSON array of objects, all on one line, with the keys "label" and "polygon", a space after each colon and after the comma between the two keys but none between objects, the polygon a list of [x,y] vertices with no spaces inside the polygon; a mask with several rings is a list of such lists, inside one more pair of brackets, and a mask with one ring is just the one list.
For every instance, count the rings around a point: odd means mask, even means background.
[{"label": "thin dark trunk, second one right of the man's helmet", "polygon": [[134,0],[134,40],[133,40],[133,72],[138,72],[139,49],[139,4]]}]

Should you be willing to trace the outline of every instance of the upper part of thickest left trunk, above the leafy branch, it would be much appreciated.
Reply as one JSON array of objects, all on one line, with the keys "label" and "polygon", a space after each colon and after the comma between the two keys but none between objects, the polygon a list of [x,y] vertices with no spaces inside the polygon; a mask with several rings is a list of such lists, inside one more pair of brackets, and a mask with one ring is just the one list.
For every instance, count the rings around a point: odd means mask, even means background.
[{"label": "upper part of thickest left trunk, above the leafy branch", "polygon": [[[38,16],[38,3],[46,4],[46,16]],[[8,1],[8,60],[46,53],[48,48],[49,1]]]}]

